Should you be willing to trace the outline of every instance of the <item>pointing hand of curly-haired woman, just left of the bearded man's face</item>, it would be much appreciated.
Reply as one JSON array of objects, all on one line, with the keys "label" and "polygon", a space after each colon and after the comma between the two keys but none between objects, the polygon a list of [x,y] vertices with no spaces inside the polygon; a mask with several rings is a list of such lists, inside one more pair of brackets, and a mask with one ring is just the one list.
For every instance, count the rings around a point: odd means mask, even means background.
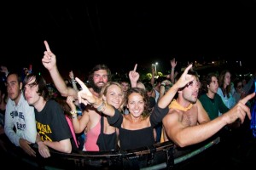
[{"label": "pointing hand of curly-haired woman, just left of the bearded man's face", "polygon": [[89,88],[86,87],[84,82],[82,82],[78,77],[75,78],[79,85],[81,86],[82,90],[78,92],[78,99],[79,103],[83,103],[84,105],[93,105],[96,103],[96,96],[91,94]]}]

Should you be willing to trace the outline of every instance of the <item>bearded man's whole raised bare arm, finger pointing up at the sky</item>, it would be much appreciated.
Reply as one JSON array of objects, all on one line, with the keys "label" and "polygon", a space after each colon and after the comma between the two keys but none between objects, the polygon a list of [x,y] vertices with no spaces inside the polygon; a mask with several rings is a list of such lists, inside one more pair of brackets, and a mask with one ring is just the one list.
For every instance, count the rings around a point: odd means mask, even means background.
[{"label": "bearded man's whole raised bare arm, finger pointing up at the sky", "polygon": [[78,98],[77,91],[73,88],[68,88],[56,65],[56,56],[50,51],[49,44],[44,41],[46,51],[44,51],[44,57],[42,63],[44,67],[49,71],[49,75],[55,84],[57,90],[61,93],[61,96],[73,96],[75,99]]}]

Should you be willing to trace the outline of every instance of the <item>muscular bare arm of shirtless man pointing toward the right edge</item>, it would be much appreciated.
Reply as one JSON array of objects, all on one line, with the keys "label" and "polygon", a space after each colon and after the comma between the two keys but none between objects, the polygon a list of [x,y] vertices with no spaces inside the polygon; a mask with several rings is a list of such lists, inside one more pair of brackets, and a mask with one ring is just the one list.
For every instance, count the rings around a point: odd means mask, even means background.
[{"label": "muscular bare arm of shirtless man pointing toward the right edge", "polygon": [[179,116],[175,110],[170,110],[163,119],[163,126],[166,129],[167,136],[180,147],[191,144],[200,143],[217,133],[222,127],[237,119],[244,121],[247,115],[251,119],[249,108],[245,105],[249,99],[252,99],[255,94],[249,94],[246,98],[241,99],[230,111],[222,116],[218,116],[210,122],[206,122],[193,127],[185,127],[179,121]]}]

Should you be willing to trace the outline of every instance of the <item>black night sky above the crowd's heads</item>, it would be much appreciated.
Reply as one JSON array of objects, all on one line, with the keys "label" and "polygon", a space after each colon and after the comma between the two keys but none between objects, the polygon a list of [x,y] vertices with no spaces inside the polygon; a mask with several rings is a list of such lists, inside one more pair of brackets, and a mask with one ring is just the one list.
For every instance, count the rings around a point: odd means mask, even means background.
[{"label": "black night sky above the crowd's heads", "polygon": [[[1,4],[1,65],[46,72],[44,40],[63,74],[171,69],[218,59],[253,67],[256,1],[32,1]],[[65,72],[65,73],[64,73]]]}]

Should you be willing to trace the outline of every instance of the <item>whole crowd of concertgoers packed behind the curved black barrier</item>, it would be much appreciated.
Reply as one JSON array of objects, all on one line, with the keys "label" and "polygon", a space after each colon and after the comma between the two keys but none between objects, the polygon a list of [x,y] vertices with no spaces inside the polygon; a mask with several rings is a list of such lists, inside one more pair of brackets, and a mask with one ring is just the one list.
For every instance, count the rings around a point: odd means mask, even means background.
[{"label": "whole crowd of concertgoers packed behind the curved black barrier", "polygon": [[[231,72],[198,75],[189,64],[177,71],[171,60],[171,74],[141,80],[137,66],[128,77],[112,80],[107,65],[95,65],[88,81],[69,72],[61,76],[55,54],[44,41],[42,64],[49,71],[52,87],[41,75],[8,71],[0,88],[0,133],[29,156],[37,156],[31,144],[38,144],[40,156],[50,150],[131,150],[172,141],[177,147],[198,144],[224,128],[240,128],[251,118],[256,74],[245,83],[231,78]],[[255,71],[256,73],[256,71]]]}]

